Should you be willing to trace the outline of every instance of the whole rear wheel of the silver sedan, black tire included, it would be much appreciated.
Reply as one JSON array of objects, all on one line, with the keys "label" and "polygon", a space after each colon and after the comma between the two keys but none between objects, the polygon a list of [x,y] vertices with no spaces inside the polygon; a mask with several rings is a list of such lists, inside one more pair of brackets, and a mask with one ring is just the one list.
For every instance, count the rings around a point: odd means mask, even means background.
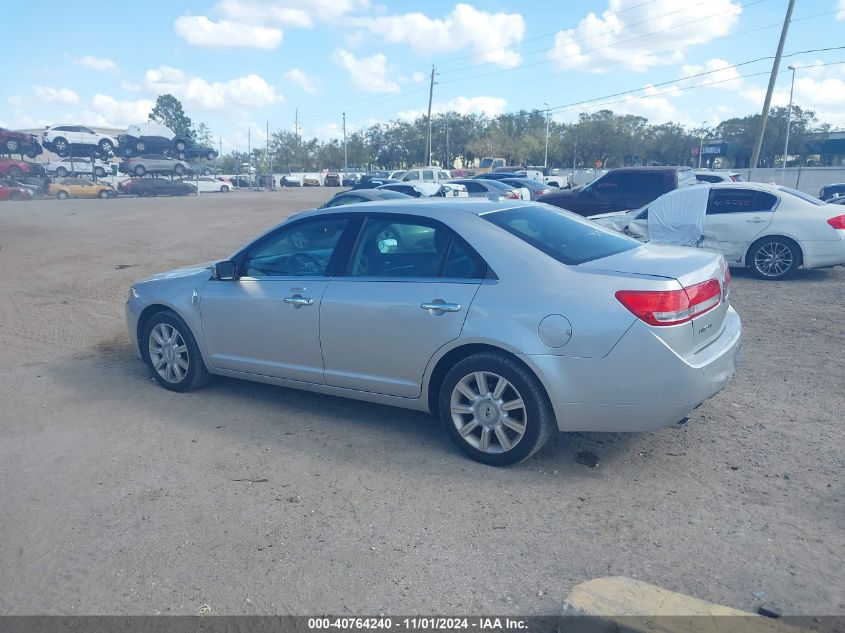
[{"label": "whole rear wheel of the silver sedan, black tire included", "polygon": [[556,428],[543,385],[500,352],[480,352],[457,363],[440,386],[437,410],[458,448],[490,466],[528,459]]}]

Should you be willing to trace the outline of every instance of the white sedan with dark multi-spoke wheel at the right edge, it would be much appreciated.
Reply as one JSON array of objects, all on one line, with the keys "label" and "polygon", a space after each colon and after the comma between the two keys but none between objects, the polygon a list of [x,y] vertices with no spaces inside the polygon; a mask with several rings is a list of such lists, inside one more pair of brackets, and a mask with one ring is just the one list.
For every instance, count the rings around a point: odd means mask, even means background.
[{"label": "white sedan with dark multi-spoke wheel at the right edge", "polygon": [[[653,207],[665,214],[658,224],[649,218]],[[698,246],[719,251],[731,266],[748,267],[763,279],[783,279],[799,266],[845,264],[845,215],[839,211],[789,187],[745,182],[686,187],[647,207],[590,219],[650,241],[656,229],[665,234],[673,224],[679,234],[688,232],[698,213]]]}]

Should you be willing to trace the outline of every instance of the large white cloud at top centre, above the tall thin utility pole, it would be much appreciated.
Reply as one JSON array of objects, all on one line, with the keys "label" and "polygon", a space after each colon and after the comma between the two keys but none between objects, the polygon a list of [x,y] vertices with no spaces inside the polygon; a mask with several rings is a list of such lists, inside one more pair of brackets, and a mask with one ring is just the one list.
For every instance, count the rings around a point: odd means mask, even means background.
[{"label": "large white cloud at top centre, above the tall thin utility pole", "polygon": [[520,56],[511,47],[525,35],[525,20],[519,13],[490,13],[469,4],[457,4],[443,18],[424,13],[350,18],[390,44],[408,44],[420,55],[454,53],[468,47],[476,61],[513,68]]}]

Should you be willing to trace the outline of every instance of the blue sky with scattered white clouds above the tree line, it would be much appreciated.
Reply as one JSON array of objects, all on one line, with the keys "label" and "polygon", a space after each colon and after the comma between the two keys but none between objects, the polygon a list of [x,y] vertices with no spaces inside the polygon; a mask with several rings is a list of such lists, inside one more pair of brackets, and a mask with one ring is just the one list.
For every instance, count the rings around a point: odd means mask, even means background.
[{"label": "blue sky with scattered white clouds above the tree line", "polygon": [[[4,7],[0,125],[125,127],[176,95],[223,151],[271,131],[322,139],[425,112],[609,107],[715,125],[758,112],[787,0],[150,0]],[[845,0],[798,0],[785,53],[845,46]],[[11,54],[11,63],[9,55]],[[795,103],[845,128],[845,48],[788,57]],[[705,74],[702,74],[705,73]],[[690,75],[700,75],[684,79]],[[775,105],[789,99],[782,72]],[[710,84],[702,86],[700,84]],[[639,92],[609,97],[629,90]],[[588,102],[588,103],[582,103]]]}]

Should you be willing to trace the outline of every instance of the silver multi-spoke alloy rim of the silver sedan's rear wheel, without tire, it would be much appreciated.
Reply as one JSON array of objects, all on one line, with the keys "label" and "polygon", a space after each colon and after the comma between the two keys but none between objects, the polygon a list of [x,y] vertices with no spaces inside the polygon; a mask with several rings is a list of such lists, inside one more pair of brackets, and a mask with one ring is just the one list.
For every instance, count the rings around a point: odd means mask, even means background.
[{"label": "silver multi-spoke alloy rim of the silver sedan's rear wheel, without tire", "polygon": [[506,453],[525,435],[525,403],[499,374],[476,371],[464,376],[452,390],[449,406],[460,436],[482,452]]}]

